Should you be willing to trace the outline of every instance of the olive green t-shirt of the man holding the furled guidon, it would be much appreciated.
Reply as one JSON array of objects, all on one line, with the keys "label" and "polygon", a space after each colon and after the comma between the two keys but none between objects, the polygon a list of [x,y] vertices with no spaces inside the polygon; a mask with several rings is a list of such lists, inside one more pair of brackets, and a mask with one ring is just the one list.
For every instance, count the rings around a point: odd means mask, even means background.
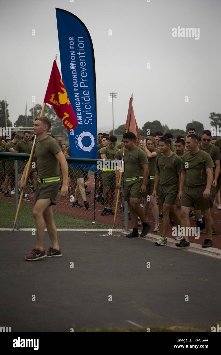
[{"label": "olive green t-shirt of the man holding the furled guidon", "polygon": [[[115,154],[115,159],[121,160],[123,156],[123,149],[120,149]],[[142,165],[148,164],[147,154],[140,149],[139,147],[135,147],[130,151],[128,149],[125,150],[125,154],[123,156],[124,164],[125,164],[125,178],[133,178],[134,176],[143,176],[143,168]]]}]

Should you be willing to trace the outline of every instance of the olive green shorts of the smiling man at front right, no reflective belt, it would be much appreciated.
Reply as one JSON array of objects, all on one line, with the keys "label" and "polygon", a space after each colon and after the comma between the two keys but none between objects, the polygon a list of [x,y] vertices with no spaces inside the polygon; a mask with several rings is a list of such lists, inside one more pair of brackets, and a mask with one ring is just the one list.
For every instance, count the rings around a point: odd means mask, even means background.
[{"label": "olive green shorts of the smiling man at front right, no reflective belt", "polygon": [[196,187],[184,185],[180,202],[181,206],[194,207],[195,209],[201,209],[201,211],[212,207],[211,196],[209,198],[203,197],[205,188],[206,185],[199,185]]}]

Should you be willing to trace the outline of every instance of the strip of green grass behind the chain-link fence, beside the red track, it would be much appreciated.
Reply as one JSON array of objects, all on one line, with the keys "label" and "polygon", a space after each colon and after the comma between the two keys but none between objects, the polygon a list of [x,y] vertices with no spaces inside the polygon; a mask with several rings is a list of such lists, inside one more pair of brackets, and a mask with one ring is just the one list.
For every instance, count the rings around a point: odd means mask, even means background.
[{"label": "strip of green grass behind the chain-link fence, beside the red track", "polygon": [[[35,228],[35,221],[32,211],[33,206],[21,204],[19,212],[19,228]],[[108,228],[105,224],[93,224],[91,220],[68,216],[63,213],[54,212],[53,215],[57,228]],[[13,228],[13,222],[15,219],[15,202],[1,199],[0,216],[0,228]],[[110,228],[114,229],[113,226]],[[115,227],[115,229],[117,228],[119,227]]]}]

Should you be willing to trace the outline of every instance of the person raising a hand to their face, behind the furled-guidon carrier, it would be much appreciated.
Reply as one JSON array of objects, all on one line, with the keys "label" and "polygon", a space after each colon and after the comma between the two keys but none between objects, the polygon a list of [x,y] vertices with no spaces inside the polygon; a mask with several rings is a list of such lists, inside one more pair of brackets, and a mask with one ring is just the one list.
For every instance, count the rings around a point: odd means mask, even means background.
[{"label": "person raising a hand to their face, behind the furled-guidon carrier", "polygon": [[151,208],[155,219],[155,228],[153,232],[160,232],[161,229],[159,225],[159,208],[158,205],[156,204],[156,198],[153,197],[152,195],[154,191],[154,181],[155,181],[155,160],[156,157],[160,154],[160,149],[154,148],[154,137],[152,136],[148,136],[144,139],[144,149],[149,161],[149,176],[147,181],[147,191],[144,197],[144,213],[148,221],[149,205],[151,202]]}]

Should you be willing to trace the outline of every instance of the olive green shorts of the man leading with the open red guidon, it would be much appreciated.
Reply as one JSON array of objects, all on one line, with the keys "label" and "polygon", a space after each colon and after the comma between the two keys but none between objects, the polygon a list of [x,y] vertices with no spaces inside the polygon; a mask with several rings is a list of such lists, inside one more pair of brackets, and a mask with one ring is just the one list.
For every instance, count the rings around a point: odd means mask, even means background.
[{"label": "olive green shorts of the man leading with the open red guidon", "polygon": [[57,193],[59,192],[60,181],[55,182],[37,182],[35,201],[44,200],[45,198],[50,198],[51,203],[49,206],[56,204]]}]

